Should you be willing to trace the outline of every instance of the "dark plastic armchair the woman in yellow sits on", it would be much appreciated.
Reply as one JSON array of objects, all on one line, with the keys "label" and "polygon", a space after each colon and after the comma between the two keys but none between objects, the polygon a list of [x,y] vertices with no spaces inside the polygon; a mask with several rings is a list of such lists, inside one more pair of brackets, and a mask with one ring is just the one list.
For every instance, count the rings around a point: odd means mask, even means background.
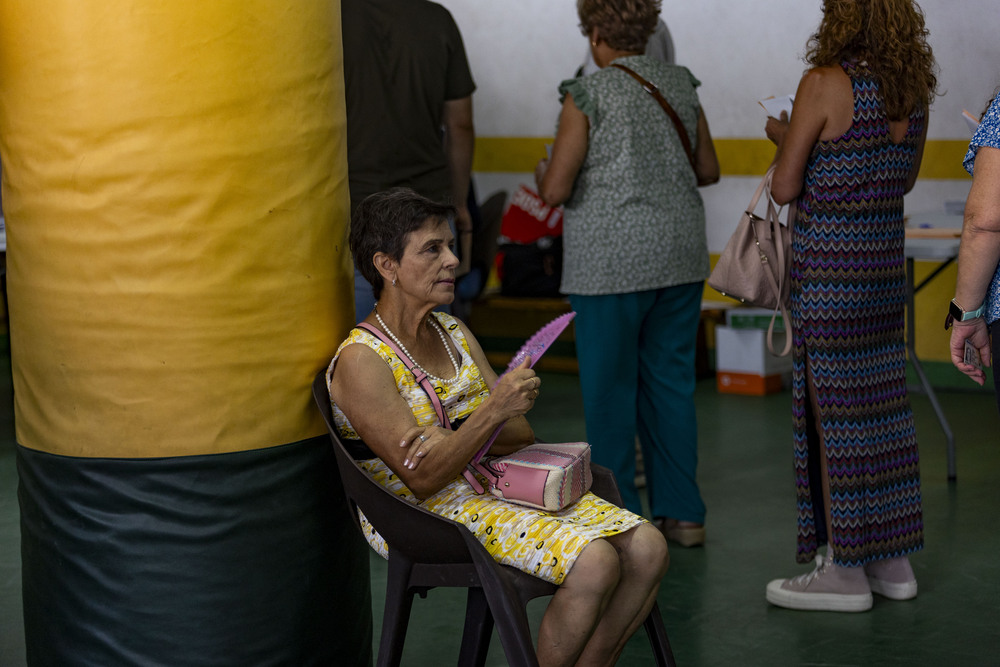
[{"label": "dark plastic armchair the woman in yellow sits on", "polygon": [[[313,382],[313,398],[330,433],[355,525],[361,529],[357,515],[361,508],[389,547],[377,664],[399,664],[413,595],[425,597],[432,588],[449,586],[468,589],[459,665],[485,663],[494,623],[509,665],[538,665],[526,605],[534,598],[552,595],[558,586],[500,565],[465,526],[398,498],[362,470],[340,440],[323,371]],[[593,466],[593,473],[591,490],[620,504],[611,472]],[[658,605],[654,604],[644,627],[656,664],[676,665]]]}]

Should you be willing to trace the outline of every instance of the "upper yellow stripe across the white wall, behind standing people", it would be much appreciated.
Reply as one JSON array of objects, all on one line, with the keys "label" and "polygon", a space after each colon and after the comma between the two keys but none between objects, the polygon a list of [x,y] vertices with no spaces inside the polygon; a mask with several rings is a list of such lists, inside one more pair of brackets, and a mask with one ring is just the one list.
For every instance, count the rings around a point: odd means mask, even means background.
[{"label": "upper yellow stripe across the white wall, behind standing people", "polygon": [[[473,170],[496,173],[532,173],[545,157],[552,137],[478,137]],[[715,152],[723,176],[760,176],[774,158],[774,144],[767,139],[715,139]],[[969,142],[930,140],[924,147],[920,178],[964,180],[962,158]]]}]

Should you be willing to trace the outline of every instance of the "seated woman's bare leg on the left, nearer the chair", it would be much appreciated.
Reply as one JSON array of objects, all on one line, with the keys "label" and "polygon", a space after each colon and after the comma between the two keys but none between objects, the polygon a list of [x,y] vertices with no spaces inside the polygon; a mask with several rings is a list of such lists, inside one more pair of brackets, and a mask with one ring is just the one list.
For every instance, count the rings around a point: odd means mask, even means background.
[{"label": "seated woman's bare leg on the left, nearer the chair", "polygon": [[538,664],[576,664],[620,577],[617,550],[606,540],[588,544],[552,596],[538,630]]}]

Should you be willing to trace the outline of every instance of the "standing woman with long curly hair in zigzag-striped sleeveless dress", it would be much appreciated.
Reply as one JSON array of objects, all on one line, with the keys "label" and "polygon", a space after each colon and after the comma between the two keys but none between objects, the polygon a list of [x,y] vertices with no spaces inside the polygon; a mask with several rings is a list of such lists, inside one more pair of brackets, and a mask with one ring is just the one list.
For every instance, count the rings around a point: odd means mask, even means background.
[{"label": "standing woman with long curly hair in zigzag-striped sleeveless dress", "polygon": [[[911,0],[825,0],[773,195],[797,200],[792,234],[792,421],[797,560],[767,586],[791,609],[865,611],[917,594],[920,473],[906,395],[903,194],[917,178],[934,59]],[[826,556],[817,555],[827,544]]]}]

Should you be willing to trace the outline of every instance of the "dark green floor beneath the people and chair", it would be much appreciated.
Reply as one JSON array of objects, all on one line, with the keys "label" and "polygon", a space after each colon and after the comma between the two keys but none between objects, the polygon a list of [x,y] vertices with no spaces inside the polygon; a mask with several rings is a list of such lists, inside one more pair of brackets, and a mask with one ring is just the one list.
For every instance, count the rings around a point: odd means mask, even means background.
[{"label": "dark green floor beneath the people and chair", "polygon": [[[9,361],[0,357],[0,378]],[[583,439],[575,376],[543,374],[532,422],[547,440]],[[698,386],[700,481],[709,515],[705,548],[672,550],[660,608],[678,664],[1000,664],[1000,419],[991,393],[939,394],[955,431],[957,482],[946,474],[945,441],[926,397],[913,394],[920,439],[926,549],[913,557],[920,595],[876,597],[864,614],[794,612],[764,601],[768,580],[805,571],[794,561],[790,396],[720,395]],[[9,380],[0,379],[0,667],[24,664]],[[384,563],[372,559],[376,641]],[[432,591],[418,599],[403,665],[455,664],[464,598]],[[544,600],[532,603],[536,620]],[[489,664],[503,665],[494,638]],[[644,636],[623,665],[652,664]]]}]

